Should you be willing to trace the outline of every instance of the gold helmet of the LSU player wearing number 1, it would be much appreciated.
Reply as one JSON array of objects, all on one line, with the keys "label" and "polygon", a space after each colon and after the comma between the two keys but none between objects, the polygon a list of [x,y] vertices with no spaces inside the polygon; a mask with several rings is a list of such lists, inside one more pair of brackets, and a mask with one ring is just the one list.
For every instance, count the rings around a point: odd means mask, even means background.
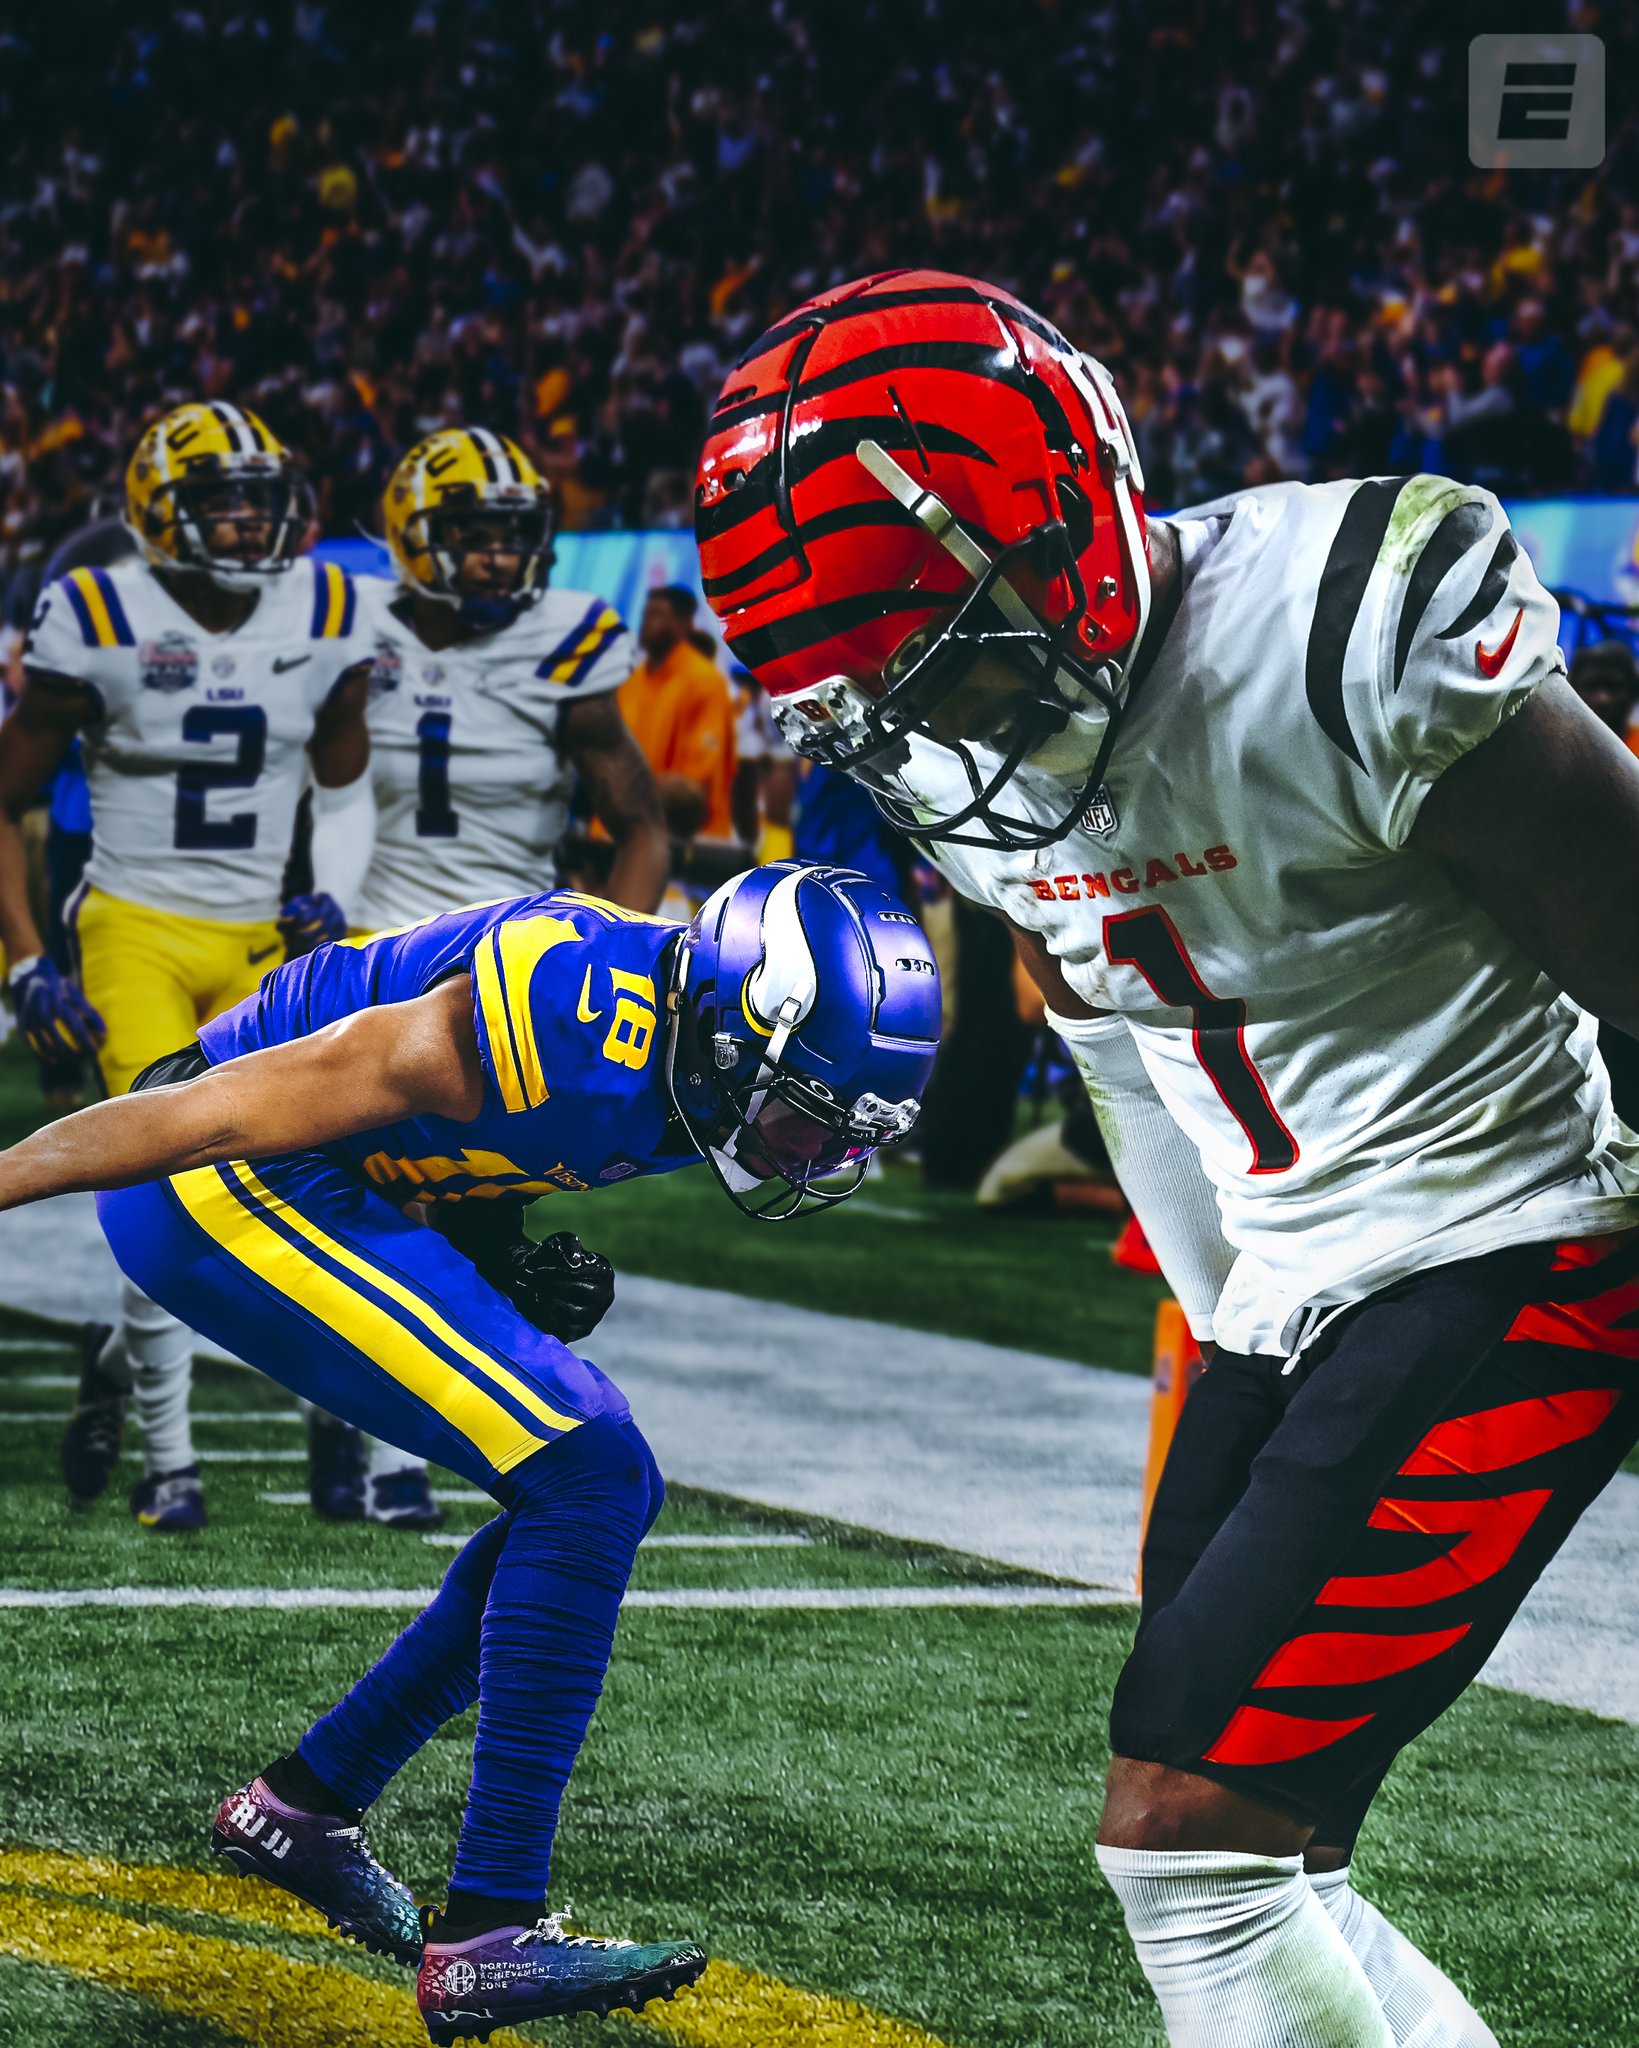
[{"label": "gold helmet of the LSU player wearing number 1", "polygon": [[[428,598],[516,612],[545,590],[551,489],[506,434],[447,426],[418,440],[387,479],[381,522],[400,578]],[[516,567],[461,588],[463,561],[490,553],[514,555]]]}]

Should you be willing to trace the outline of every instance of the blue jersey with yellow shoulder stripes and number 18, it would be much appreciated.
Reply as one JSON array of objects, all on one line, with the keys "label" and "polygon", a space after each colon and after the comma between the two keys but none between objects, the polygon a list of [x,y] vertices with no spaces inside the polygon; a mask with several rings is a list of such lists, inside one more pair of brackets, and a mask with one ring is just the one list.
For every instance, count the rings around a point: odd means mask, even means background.
[{"label": "blue jersey with yellow shoulder stripes and number 18", "polygon": [[291,961],[199,1038],[217,1065],[465,971],[484,1061],[477,1118],[418,1116],[330,1155],[397,1202],[668,1174],[697,1159],[664,1077],[666,954],[680,930],[572,891],[484,903]]}]

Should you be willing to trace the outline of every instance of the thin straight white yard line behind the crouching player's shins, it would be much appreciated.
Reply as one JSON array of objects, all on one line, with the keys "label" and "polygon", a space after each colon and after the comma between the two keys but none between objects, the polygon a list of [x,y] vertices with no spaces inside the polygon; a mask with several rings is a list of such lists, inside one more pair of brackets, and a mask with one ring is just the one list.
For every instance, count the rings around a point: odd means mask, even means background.
[{"label": "thin straight white yard line behind the crouching player's shins", "polygon": [[[414,1591],[375,1585],[94,1585],[76,1591],[0,1587],[0,1608],[211,1608],[227,1614],[252,1608],[424,1608],[434,1591],[430,1585]],[[678,1585],[664,1593],[627,1593],[625,1606],[850,1614],[875,1608],[1121,1608],[1129,1606],[1129,1595],[1102,1585]]]}]

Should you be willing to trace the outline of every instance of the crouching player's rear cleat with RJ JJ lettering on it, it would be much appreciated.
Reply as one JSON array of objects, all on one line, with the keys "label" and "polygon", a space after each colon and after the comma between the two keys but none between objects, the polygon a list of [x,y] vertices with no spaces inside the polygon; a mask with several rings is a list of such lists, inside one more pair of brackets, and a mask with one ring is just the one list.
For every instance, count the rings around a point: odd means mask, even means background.
[{"label": "crouching player's rear cleat with RJ JJ lettering on it", "polygon": [[356,1821],[287,1806],[252,1778],[217,1806],[211,1851],[242,1878],[262,1878],[324,1913],[342,1939],[359,1942],[373,1956],[422,1960],[416,1901],[371,1855]]}]

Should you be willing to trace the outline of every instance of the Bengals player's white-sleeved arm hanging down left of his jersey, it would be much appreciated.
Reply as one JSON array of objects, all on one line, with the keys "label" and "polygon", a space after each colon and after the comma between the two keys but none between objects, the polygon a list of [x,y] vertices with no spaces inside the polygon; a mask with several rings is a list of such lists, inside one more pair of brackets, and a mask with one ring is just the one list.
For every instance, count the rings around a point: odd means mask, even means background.
[{"label": "Bengals player's white-sleeved arm hanging down left of his jersey", "polygon": [[1047,1004],[1047,1022],[1069,1047],[1082,1075],[1121,1192],[1133,1204],[1196,1343],[1211,1356],[1213,1309],[1235,1253],[1223,1241],[1217,1196],[1201,1169],[1201,1153],[1155,1094],[1123,1020],[1082,1001],[1037,932],[1016,924],[1010,930],[1018,958]]}]

